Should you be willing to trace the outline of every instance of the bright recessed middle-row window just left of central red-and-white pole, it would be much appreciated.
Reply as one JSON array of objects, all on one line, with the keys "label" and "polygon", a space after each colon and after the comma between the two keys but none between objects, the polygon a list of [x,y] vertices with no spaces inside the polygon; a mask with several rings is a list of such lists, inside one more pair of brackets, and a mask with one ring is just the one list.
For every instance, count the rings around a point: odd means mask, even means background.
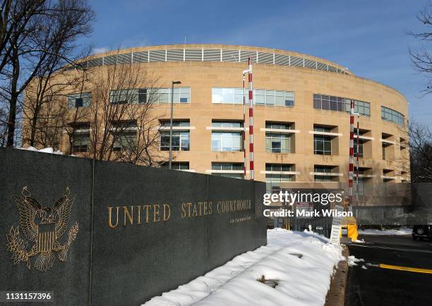
[{"label": "bright recessed middle-row window just left of central red-and-white pole", "polygon": [[[212,122],[213,128],[243,128],[240,122]],[[242,131],[214,130],[212,131],[212,151],[238,152],[243,149]]]}]

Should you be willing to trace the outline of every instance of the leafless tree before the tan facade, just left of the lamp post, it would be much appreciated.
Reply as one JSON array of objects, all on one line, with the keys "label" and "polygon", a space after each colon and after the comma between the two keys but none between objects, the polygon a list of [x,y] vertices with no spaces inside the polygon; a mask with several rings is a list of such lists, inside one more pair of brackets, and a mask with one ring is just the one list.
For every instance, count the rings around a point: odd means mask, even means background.
[{"label": "leafless tree before the tan facade, just left of the lamp post", "polygon": [[157,76],[138,63],[104,66],[92,78],[90,157],[157,166]]}]

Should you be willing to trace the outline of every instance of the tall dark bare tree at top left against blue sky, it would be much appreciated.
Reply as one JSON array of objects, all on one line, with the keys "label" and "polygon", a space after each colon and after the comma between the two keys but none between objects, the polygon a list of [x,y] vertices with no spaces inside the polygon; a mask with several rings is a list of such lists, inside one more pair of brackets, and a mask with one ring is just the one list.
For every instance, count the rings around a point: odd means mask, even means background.
[{"label": "tall dark bare tree at top left against blue sky", "polygon": [[7,145],[13,146],[23,91],[37,76],[70,63],[76,39],[91,31],[86,0],[4,0],[0,18],[0,97],[8,102]]}]

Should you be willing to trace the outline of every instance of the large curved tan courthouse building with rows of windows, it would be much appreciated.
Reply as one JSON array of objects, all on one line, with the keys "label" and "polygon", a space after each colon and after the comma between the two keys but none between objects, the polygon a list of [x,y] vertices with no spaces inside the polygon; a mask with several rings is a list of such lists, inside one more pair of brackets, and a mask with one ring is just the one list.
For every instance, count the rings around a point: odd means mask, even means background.
[{"label": "large curved tan courthouse building with rows of windows", "polygon": [[[166,157],[170,87],[173,80],[181,81],[174,89],[173,168],[243,178],[242,134],[248,128],[248,114],[246,109],[245,127],[242,73],[249,56],[253,59],[256,180],[267,182],[269,190],[285,182],[346,183],[351,99],[359,114],[360,189],[366,184],[409,180],[407,99],[392,87],[356,76],[337,63],[293,51],[222,44],[139,47],[96,54],[84,61],[96,69],[140,63],[159,75],[155,102],[164,114],[159,149]],[[91,92],[85,99],[69,93],[69,109],[91,103]],[[72,152],[90,150],[89,138],[84,129]],[[64,141],[57,149],[70,152],[68,146]]]}]

